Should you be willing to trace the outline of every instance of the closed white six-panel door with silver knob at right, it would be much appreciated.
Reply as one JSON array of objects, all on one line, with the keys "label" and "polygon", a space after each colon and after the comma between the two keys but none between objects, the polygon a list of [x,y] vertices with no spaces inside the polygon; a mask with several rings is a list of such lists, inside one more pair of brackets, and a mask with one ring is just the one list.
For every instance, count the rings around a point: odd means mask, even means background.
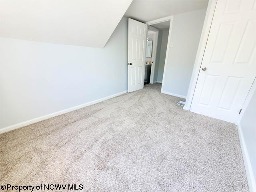
[{"label": "closed white six-panel door with silver knob at right", "polygon": [[256,1],[218,0],[190,111],[236,122],[255,76]]}]

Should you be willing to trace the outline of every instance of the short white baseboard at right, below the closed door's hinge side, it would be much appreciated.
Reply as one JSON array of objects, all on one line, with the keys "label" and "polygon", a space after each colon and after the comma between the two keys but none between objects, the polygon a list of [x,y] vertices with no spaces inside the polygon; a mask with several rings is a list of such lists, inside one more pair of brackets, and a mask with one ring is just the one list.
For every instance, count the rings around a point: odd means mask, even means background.
[{"label": "short white baseboard at right, below the closed door's hinge side", "polygon": [[240,123],[237,124],[237,128],[238,128],[238,134],[239,134],[239,140],[240,140],[240,145],[241,145],[241,149],[242,149],[242,154],[243,154],[243,158],[244,158],[244,166],[245,166],[249,190],[250,190],[250,192],[256,192],[256,182],[255,182],[254,175],[252,172],[252,165],[250,162],[249,154],[248,154],[248,151],[246,148],[246,143],[244,141],[244,135],[243,135],[242,127],[241,127]]}]

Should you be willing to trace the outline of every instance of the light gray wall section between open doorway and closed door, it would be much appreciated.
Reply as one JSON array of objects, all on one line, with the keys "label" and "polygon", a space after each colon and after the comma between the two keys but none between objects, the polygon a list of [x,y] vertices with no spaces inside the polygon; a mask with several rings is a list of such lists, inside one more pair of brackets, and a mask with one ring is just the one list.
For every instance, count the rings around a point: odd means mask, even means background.
[{"label": "light gray wall section between open doorway and closed door", "polygon": [[206,9],[174,15],[163,91],[186,96]]}]

